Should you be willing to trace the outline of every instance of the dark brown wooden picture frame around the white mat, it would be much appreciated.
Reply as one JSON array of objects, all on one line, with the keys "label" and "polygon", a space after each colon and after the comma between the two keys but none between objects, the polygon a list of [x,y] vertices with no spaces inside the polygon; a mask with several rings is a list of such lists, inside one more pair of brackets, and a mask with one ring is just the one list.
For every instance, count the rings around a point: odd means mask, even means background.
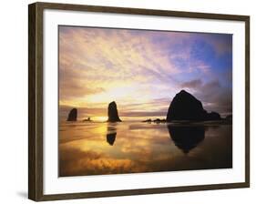
[{"label": "dark brown wooden picture frame around the white mat", "polygon": [[[86,199],[98,197],[128,196],[141,194],[169,193],[206,189],[235,189],[250,187],[250,16],[219,15],[167,10],[149,10],[125,7],[94,5],[66,5],[35,3],[28,6],[28,198],[36,201],[55,199]],[[44,11],[46,9],[62,11],[112,13],[123,15],[172,16],[196,19],[228,20],[245,23],[245,174],[244,182],[165,187],[150,189],[119,189],[94,192],[44,194]],[[235,90],[233,90],[235,91]]]}]

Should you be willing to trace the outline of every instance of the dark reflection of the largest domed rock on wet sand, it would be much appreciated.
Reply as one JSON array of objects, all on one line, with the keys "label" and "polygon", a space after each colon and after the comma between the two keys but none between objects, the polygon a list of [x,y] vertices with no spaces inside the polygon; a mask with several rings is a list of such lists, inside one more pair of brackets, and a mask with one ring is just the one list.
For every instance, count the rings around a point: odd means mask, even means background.
[{"label": "dark reflection of the largest domed rock on wet sand", "polygon": [[176,147],[180,148],[185,154],[192,148],[196,148],[204,139],[204,127],[183,127],[168,126],[169,137],[173,140]]}]

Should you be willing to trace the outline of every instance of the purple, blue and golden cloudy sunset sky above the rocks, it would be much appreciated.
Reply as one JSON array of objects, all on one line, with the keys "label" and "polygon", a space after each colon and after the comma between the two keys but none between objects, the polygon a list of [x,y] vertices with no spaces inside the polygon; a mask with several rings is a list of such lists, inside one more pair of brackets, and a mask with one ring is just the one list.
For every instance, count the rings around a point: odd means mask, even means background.
[{"label": "purple, blue and golden cloudy sunset sky above the rocks", "polygon": [[232,36],[59,26],[59,114],[106,120],[166,117],[181,89],[207,111],[232,112]]}]

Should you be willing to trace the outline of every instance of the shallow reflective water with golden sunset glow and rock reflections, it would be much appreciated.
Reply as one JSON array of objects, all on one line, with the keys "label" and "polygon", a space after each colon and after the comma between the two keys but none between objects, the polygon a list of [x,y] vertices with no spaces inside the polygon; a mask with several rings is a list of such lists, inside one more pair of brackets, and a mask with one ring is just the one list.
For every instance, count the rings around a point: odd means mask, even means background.
[{"label": "shallow reflective water with golden sunset glow and rock reflections", "polygon": [[232,168],[232,126],[63,122],[59,176]]}]

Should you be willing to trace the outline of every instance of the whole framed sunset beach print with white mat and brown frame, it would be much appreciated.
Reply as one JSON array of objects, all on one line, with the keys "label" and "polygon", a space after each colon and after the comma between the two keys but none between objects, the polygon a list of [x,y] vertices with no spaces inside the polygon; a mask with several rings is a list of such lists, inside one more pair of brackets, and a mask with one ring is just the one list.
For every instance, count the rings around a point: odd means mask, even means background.
[{"label": "whole framed sunset beach print with white mat and brown frame", "polygon": [[29,199],[250,186],[250,17],[29,5]]}]

